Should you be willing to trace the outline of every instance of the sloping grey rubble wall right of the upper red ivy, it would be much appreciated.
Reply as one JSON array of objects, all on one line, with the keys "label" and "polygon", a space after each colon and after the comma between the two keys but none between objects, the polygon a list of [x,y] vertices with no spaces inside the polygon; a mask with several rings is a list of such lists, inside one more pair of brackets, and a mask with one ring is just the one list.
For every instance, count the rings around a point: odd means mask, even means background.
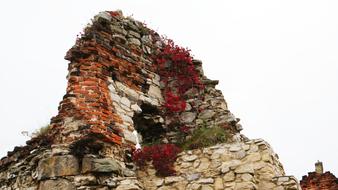
[{"label": "sloping grey rubble wall right of the upper red ivy", "polygon": [[[245,137],[239,132],[242,130],[239,119],[236,118],[228,109],[227,103],[222,92],[216,89],[217,80],[210,80],[204,76],[202,61],[194,59],[193,64],[195,69],[199,72],[199,77],[204,85],[203,91],[199,92],[196,88],[191,88],[185,92],[186,109],[180,113],[179,122],[181,125],[187,126],[194,130],[200,127],[224,127],[228,129],[234,139],[243,140]],[[166,124],[169,125],[172,121],[170,116],[165,118]],[[174,122],[177,122],[176,120]],[[178,132],[170,131],[165,135],[168,142],[176,143]],[[189,138],[189,137],[187,137]]]}]

